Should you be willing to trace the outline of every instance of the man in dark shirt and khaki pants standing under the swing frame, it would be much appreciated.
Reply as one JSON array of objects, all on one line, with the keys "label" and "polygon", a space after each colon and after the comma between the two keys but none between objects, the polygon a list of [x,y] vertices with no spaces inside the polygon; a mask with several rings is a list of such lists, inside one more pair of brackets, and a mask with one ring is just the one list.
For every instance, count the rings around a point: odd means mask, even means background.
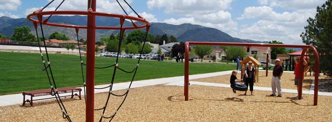
[{"label": "man in dark shirt and khaki pants standing under the swing frame", "polygon": [[283,69],[280,65],[280,59],[275,59],[275,66],[273,68],[272,72],[272,81],[271,81],[271,88],[272,88],[272,94],[270,96],[275,96],[275,88],[278,90],[278,96],[281,97],[281,76],[283,73]]}]

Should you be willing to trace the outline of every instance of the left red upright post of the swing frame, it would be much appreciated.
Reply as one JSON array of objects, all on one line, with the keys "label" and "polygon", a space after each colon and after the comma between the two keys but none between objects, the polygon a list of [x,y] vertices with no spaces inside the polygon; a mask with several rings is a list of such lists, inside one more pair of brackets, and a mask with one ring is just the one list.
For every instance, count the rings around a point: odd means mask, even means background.
[{"label": "left red upright post of the swing frame", "polygon": [[189,42],[185,42],[184,51],[184,101],[188,101],[189,91]]}]

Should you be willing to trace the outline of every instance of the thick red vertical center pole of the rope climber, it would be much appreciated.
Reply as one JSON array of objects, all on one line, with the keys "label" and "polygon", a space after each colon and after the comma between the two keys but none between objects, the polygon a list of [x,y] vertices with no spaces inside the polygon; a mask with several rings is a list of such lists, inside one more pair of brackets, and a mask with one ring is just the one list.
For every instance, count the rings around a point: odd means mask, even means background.
[{"label": "thick red vertical center pole of the rope climber", "polygon": [[[95,0],[87,0],[88,11],[95,11]],[[87,16],[86,32],[86,104],[85,122],[94,121],[94,50],[95,50],[95,15]]]}]

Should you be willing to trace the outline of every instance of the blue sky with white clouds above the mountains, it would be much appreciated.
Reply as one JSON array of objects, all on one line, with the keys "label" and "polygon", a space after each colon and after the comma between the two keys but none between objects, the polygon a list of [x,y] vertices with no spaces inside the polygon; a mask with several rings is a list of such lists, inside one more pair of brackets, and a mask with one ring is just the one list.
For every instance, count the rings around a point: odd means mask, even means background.
[{"label": "blue sky with white clouds above the mountains", "polygon": [[[0,16],[26,17],[51,0],[0,0]],[[46,10],[54,10],[54,0]],[[64,0],[58,10],[87,10],[88,0]],[[124,14],[116,0],[96,0],[96,11]],[[118,0],[129,15],[133,11]],[[191,23],[219,29],[232,37],[303,44],[301,32],[325,0],[126,0],[149,22]]]}]

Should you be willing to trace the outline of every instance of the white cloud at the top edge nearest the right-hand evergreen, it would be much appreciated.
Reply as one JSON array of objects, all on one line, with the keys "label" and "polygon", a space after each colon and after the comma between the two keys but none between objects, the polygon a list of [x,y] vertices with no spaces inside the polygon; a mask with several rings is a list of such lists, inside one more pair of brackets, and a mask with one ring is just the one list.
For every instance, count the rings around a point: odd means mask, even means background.
[{"label": "white cloud at the top edge nearest the right-hand evergreen", "polygon": [[258,0],[262,5],[271,7],[281,7],[284,9],[310,9],[312,6],[318,6],[325,2],[325,0]]}]

